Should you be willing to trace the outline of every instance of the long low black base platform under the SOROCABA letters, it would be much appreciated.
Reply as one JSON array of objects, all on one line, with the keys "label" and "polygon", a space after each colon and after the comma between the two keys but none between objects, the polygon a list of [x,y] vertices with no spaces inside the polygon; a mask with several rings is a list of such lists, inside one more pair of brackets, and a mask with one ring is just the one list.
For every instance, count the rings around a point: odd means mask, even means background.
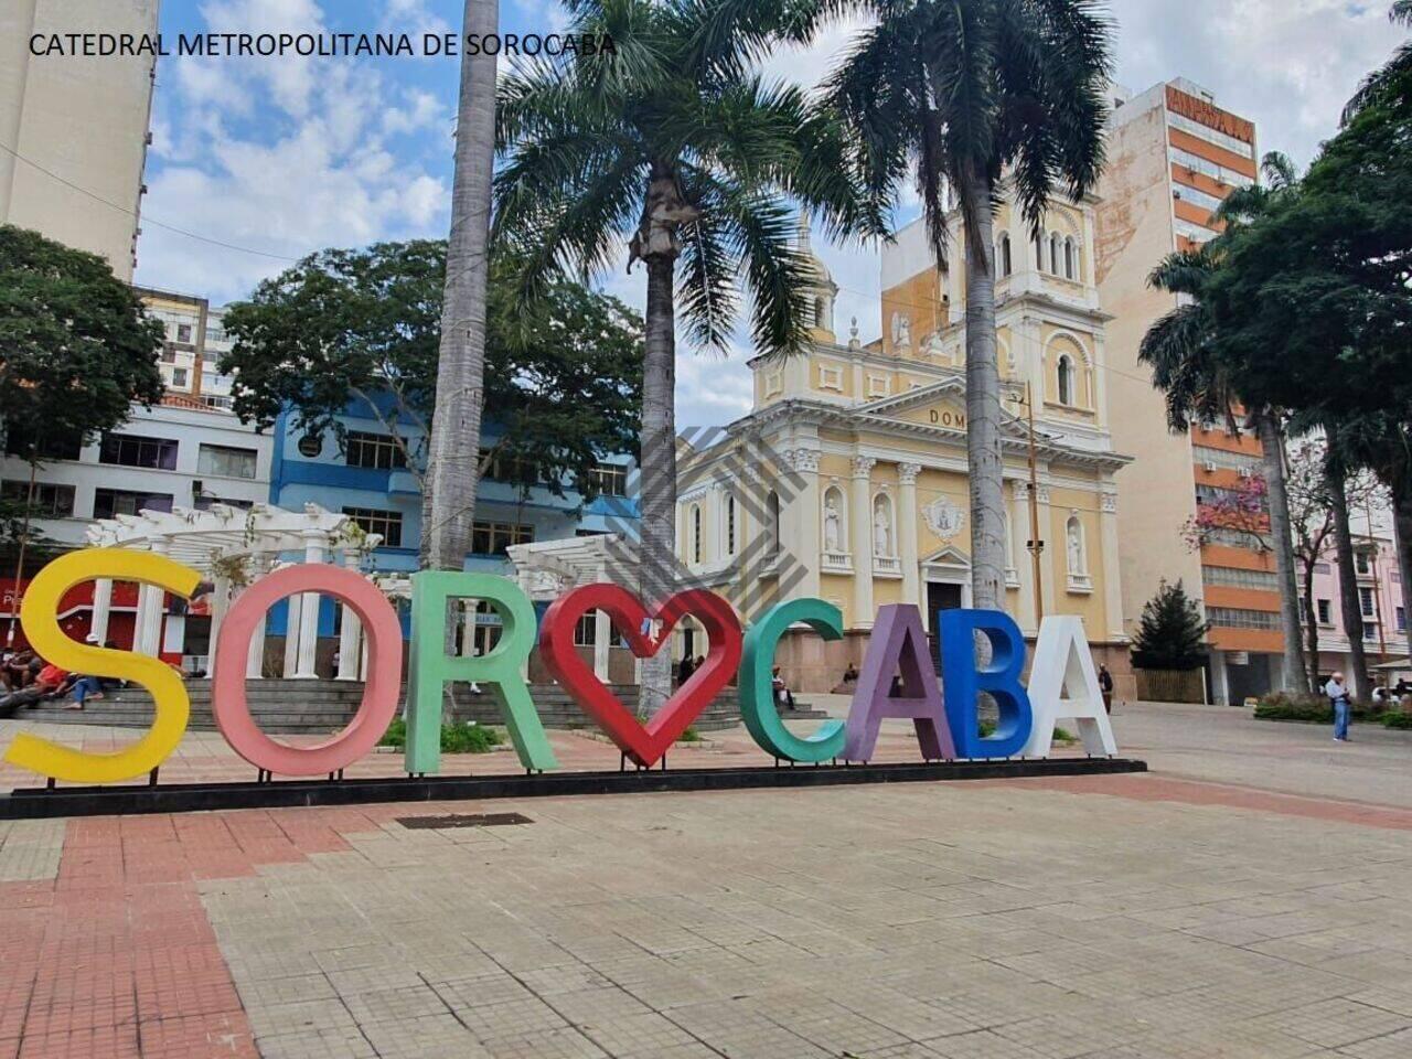
[{"label": "long low black base platform under the SOROCABA letters", "polygon": [[119,816],[213,809],[280,809],[374,802],[455,802],[480,798],[545,798],[658,791],[747,791],[844,784],[916,784],[1021,779],[1056,775],[1145,772],[1131,758],[946,761],[887,765],[789,765],[764,768],[657,768],[623,772],[391,777],[381,779],[275,779],[246,784],[21,788],[0,796],[0,819]]}]

